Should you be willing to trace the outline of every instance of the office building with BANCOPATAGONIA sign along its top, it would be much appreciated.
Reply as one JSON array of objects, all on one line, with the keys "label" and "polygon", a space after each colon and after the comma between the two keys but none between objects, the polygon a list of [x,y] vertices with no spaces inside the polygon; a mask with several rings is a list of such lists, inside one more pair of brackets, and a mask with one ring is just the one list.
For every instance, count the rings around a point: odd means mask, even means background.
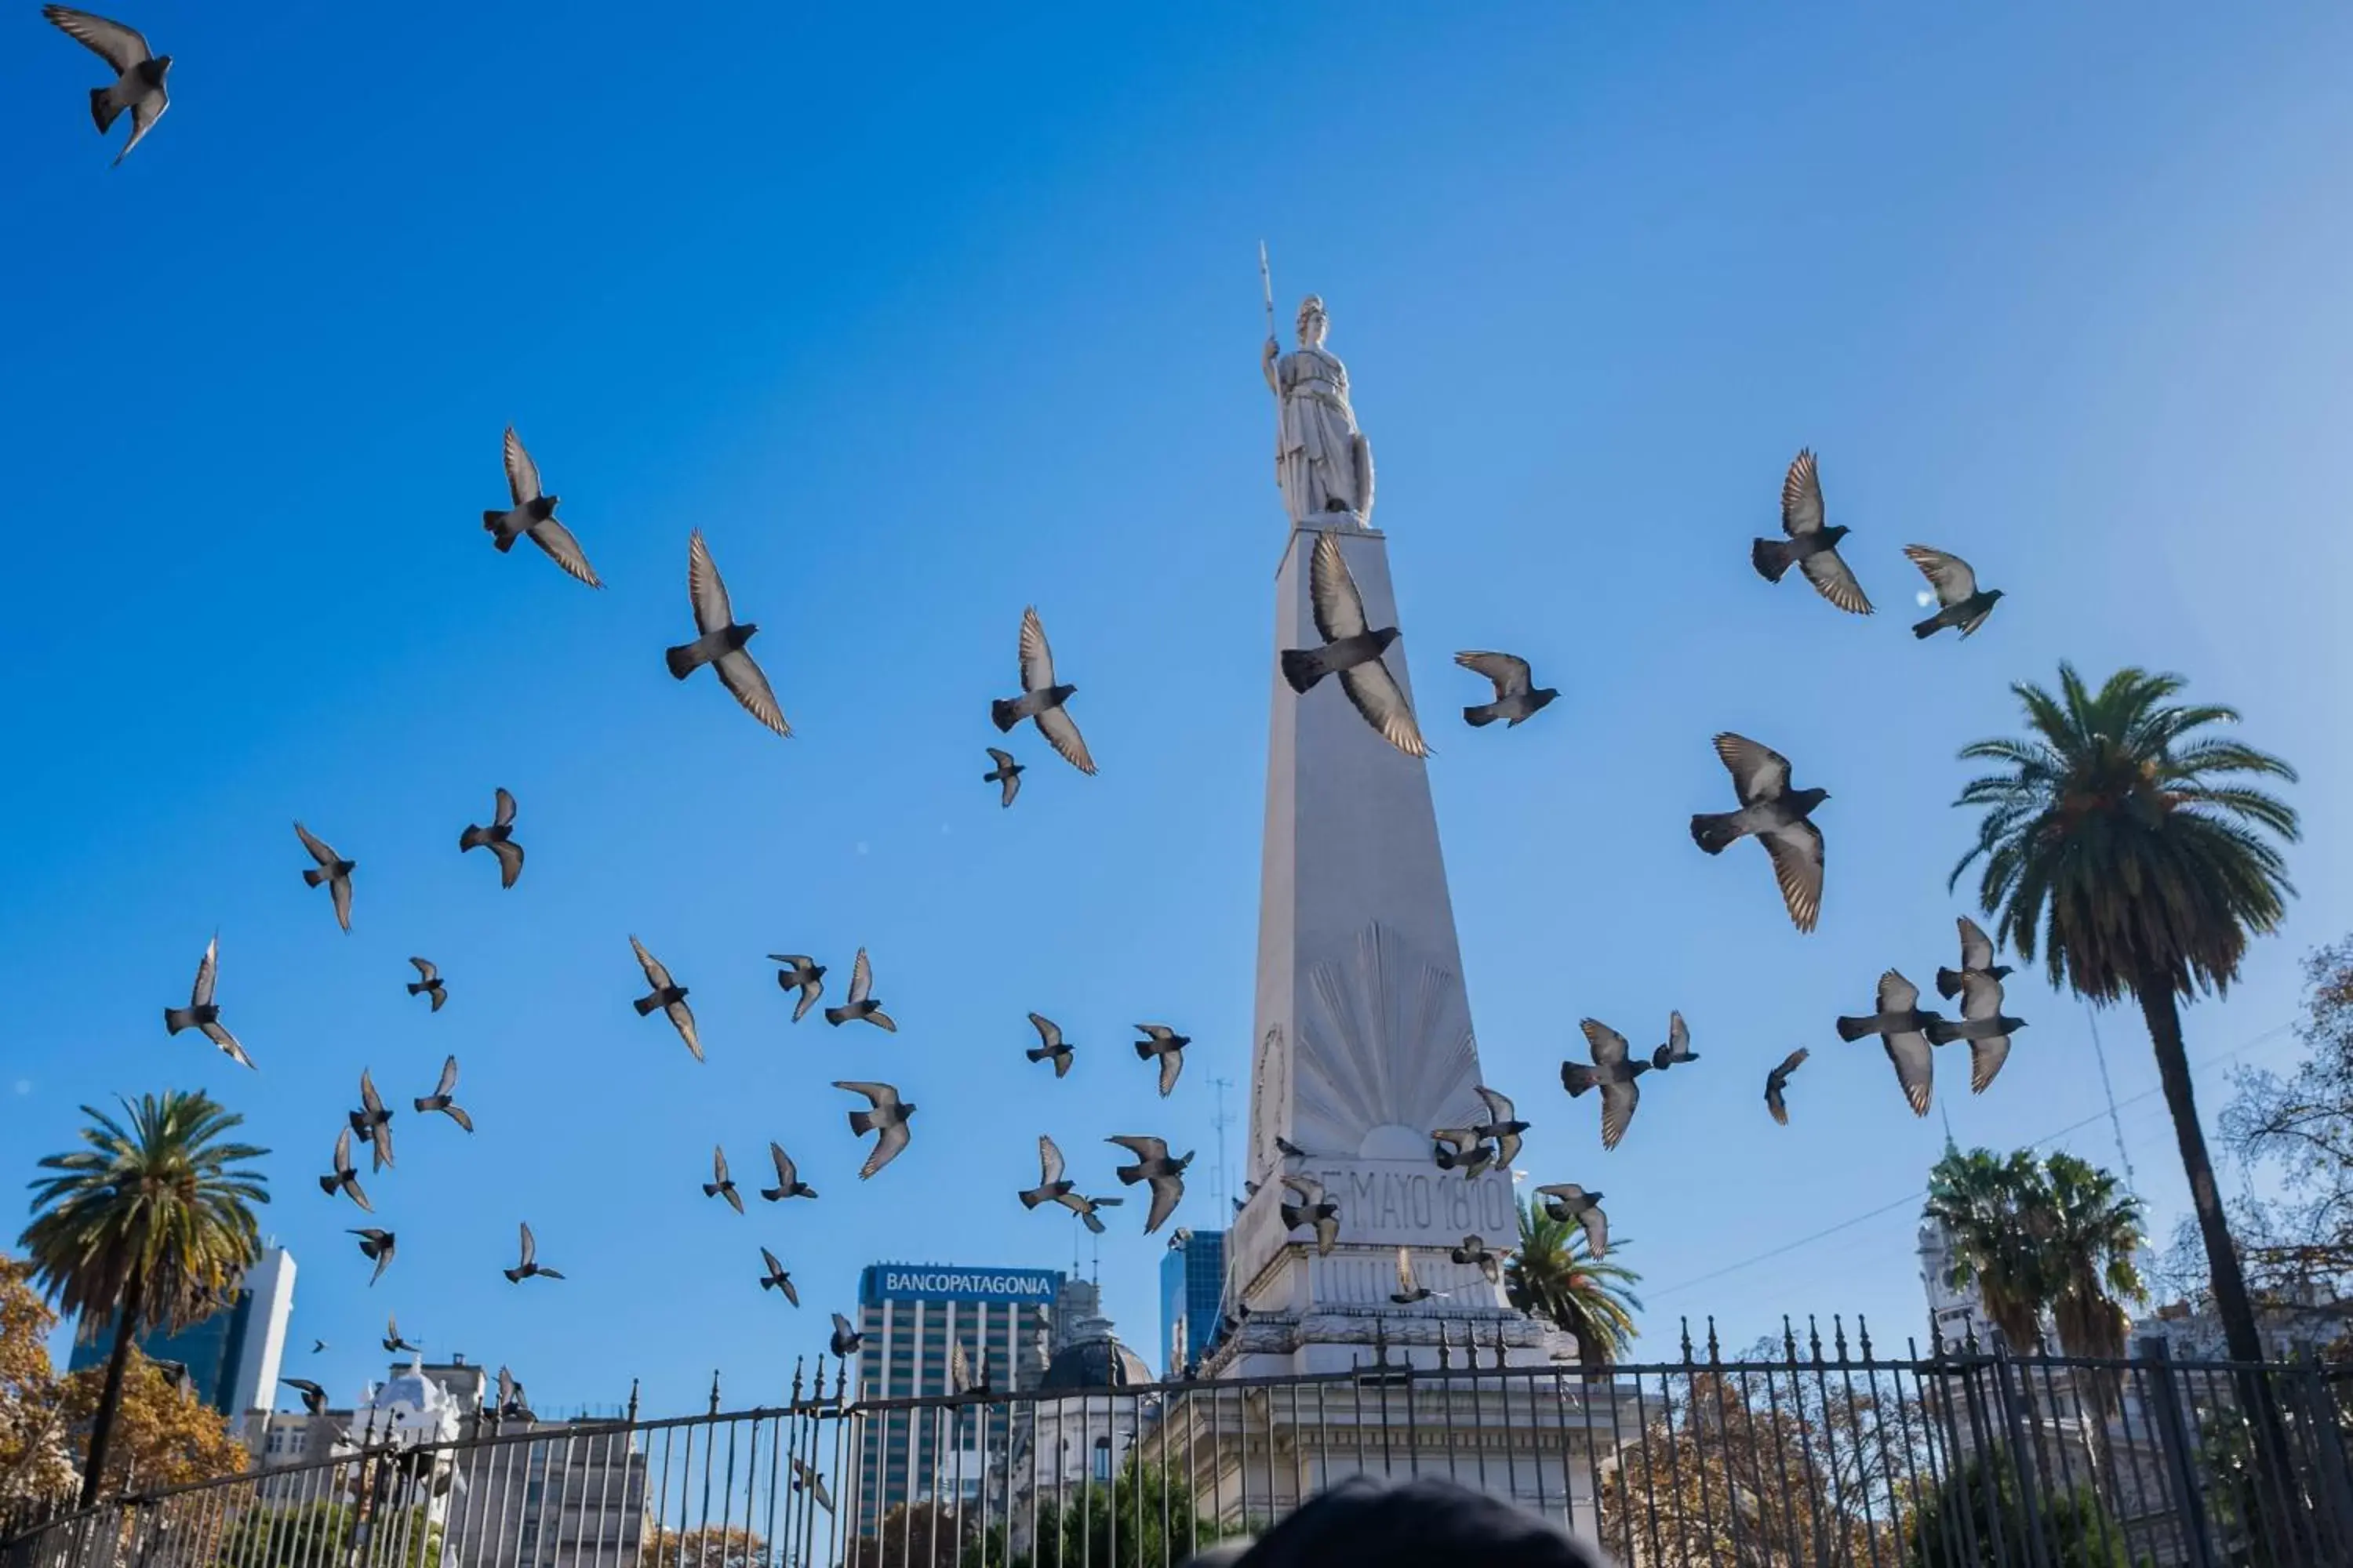
[{"label": "office building with BANCOPATAGONIA sign along its top", "polygon": [[[859,1276],[859,1399],[948,1394],[948,1347],[965,1347],[974,1380],[1028,1389],[1045,1375],[1059,1269],[974,1269],[934,1262],[873,1262]],[[866,1425],[852,1495],[856,1526],[901,1502],[981,1495],[1002,1483],[1009,1422],[1002,1408],[974,1408],[953,1422],[885,1413]],[[847,1500],[845,1500],[847,1505]]]}]

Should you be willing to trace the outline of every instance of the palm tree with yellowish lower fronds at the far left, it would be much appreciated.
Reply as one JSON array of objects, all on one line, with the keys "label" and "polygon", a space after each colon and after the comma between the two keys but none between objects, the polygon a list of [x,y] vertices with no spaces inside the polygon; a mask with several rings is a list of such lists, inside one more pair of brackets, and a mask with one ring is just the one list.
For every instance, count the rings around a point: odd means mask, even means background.
[{"label": "palm tree with yellowish lower fronds at the far left", "polygon": [[205,1093],[120,1100],[127,1126],[85,1105],[89,1147],[49,1154],[33,1182],[24,1248],[33,1279],[85,1335],[115,1319],[106,1387],[89,1422],[82,1507],[96,1502],[106,1443],[122,1408],[122,1368],[141,1333],[181,1331],[219,1309],[261,1251],[254,1204],[268,1178],[245,1168],[268,1150],[226,1143],[245,1117]]}]

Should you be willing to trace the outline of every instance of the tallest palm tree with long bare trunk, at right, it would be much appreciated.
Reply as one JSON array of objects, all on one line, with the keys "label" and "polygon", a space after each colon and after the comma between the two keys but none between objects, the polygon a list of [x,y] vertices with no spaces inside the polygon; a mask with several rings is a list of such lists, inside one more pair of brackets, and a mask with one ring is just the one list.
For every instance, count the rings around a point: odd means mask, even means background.
[{"label": "tallest palm tree with long bare trunk, at right", "polygon": [[2181,686],[2177,675],[2118,670],[2092,691],[2071,665],[2059,665],[2057,696],[2012,686],[2031,733],[1962,748],[1962,759],[2002,771],[1969,780],[1955,802],[1986,816],[1953,884],[1984,860],[1979,903],[1995,912],[1995,940],[2026,959],[2040,943],[2052,985],[2094,1001],[2125,992],[2139,1001],[2231,1359],[2261,1361],[2177,1001],[2228,990],[2247,938],[2278,929],[2294,889],[2264,835],[2294,842],[2297,813],[2247,780],[2297,773],[2268,752],[2202,733],[2238,715],[2172,703]]}]

